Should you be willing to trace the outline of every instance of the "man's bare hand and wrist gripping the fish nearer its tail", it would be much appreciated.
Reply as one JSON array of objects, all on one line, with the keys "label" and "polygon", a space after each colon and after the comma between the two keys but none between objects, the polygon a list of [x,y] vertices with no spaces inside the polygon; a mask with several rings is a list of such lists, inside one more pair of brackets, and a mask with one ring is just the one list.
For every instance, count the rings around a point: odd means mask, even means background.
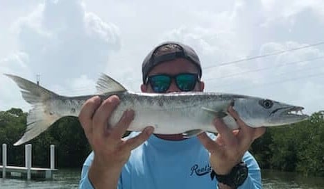
[{"label": "man's bare hand and wrist gripping the fish nearer its tail", "polygon": [[126,110],[119,122],[111,126],[109,117],[119,104],[116,95],[101,103],[100,97],[88,99],[79,114],[79,120],[89,144],[94,151],[94,160],[89,168],[89,180],[94,188],[117,188],[123,165],[130,157],[130,151],[142,145],[153,133],[148,126],[142,133],[123,139],[123,134],[134,119],[134,111]]}]

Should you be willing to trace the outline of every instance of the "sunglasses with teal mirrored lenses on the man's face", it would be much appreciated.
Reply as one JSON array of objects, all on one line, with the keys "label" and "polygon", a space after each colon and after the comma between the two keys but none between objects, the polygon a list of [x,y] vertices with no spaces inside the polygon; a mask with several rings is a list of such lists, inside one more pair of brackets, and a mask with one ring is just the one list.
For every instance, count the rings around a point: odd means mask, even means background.
[{"label": "sunglasses with teal mirrored lenses on the man's face", "polygon": [[176,85],[181,91],[191,91],[194,90],[198,81],[198,74],[157,74],[148,76],[146,84],[149,83],[154,92],[166,92],[170,88],[172,79],[176,81]]}]

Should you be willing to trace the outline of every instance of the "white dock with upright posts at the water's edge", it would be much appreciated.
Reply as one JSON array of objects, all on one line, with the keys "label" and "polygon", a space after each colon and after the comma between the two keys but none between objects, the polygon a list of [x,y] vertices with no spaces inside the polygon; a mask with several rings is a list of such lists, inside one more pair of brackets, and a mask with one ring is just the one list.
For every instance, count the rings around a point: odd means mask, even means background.
[{"label": "white dock with upright posts at the water's edge", "polygon": [[32,167],[31,166],[31,144],[25,145],[25,166],[8,166],[7,165],[7,145],[2,145],[2,165],[0,165],[0,174],[3,179],[5,178],[24,178],[31,179],[53,179],[53,173],[58,171],[54,165],[54,145],[51,145],[51,165],[46,167]]}]

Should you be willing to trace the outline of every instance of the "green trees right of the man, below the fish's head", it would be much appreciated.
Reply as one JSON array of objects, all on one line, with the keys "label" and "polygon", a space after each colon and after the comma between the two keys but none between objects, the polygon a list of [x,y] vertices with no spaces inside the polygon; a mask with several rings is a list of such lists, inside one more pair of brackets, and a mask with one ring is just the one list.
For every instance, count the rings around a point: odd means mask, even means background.
[{"label": "green trees right of the man, below the fish's head", "polygon": [[261,167],[324,176],[323,113],[298,124],[268,128],[251,151]]}]

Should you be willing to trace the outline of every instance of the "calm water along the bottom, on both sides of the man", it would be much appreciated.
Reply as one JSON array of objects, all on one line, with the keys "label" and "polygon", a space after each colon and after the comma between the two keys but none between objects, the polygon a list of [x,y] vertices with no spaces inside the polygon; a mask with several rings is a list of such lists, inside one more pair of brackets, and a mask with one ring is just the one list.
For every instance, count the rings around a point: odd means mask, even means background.
[{"label": "calm water along the bottom, on both sides of the man", "polygon": [[[263,184],[266,189],[324,189],[324,177],[305,177],[300,174],[263,170]],[[22,179],[1,179],[0,188],[78,188],[80,170],[59,170],[52,181],[25,181]]]}]

